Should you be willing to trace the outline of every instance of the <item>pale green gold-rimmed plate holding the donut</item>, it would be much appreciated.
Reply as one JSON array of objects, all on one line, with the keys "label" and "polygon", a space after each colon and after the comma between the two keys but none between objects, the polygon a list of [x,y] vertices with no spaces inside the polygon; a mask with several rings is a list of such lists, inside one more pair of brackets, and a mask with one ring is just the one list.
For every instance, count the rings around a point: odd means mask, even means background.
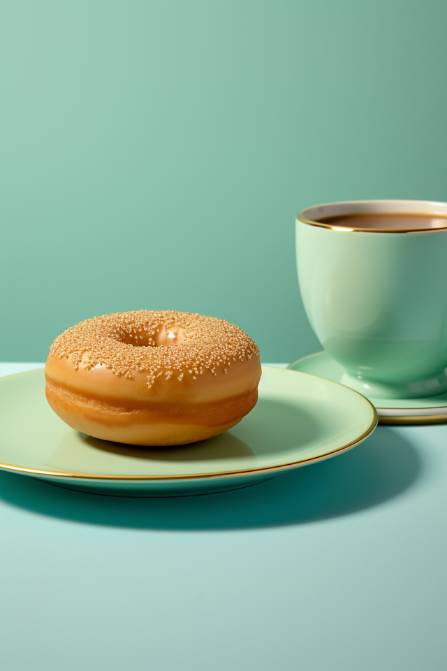
[{"label": "pale green gold-rimmed plate holding the donut", "polygon": [[0,379],[0,413],[1,469],[68,489],[152,497],[251,486],[337,456],[377,424],[376,410],[356,391],[270,366],[247,417],[180,447],[136,447],[74,431],[47,404],[42,369]]}]

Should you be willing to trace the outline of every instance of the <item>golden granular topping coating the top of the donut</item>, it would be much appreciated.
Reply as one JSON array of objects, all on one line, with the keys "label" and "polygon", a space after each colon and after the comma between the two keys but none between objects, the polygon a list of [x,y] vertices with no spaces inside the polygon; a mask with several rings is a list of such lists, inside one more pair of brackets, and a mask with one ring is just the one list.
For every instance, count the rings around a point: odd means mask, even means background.
[{"label": "golden granular topping coating the top of the donut", "polygon": [[[177,342],[175,334],[180,330],[182,341]],[[156,333],[166,333],[167,344],[157,346],[151,337]],[[50,352],[59,359],[71,356],[75,370],[99,365],[125,377],[144,371],[149,389],[163,373],[166,380],[177,377],[182,382],[185,369],[196,380],[199,372],[216,376],[220,363],[230,366],[231,359],[244,361],[259,356],[258,347],[238,326],[215,317],[173,310],[117,312],[87,319],[59,335]],[[171,369],[179,375],[173,375]]]}]

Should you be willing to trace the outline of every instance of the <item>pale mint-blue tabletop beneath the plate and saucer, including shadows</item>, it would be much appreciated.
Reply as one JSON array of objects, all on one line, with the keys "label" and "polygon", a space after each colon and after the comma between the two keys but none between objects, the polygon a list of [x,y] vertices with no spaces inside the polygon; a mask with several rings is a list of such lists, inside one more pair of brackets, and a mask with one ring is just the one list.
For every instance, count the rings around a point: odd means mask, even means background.
[{"label": "pale mint-blue tabletop beneath the plate and saucer, including shadows", "polygon": [[[0,364],[0,375],[42,364]],[[444,671],[447,426],[205,496],[0,472],[5,671]]]}]

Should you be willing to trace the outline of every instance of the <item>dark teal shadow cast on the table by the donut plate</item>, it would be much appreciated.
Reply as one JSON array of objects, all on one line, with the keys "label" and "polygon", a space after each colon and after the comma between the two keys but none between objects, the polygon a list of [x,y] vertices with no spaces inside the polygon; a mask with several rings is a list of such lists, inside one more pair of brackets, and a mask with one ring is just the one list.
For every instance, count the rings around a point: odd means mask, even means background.
[{"label": "dark teal shadow cast on the table by the donut plate", "polygon": [[379,427],[337,459],[245,489],[179,498],[124,498],[62,489],[0,472],[0,499],[36,514],[122,528],[200,530],[305,524],[359,512],[399,496],[420,475],[415,449]]}]

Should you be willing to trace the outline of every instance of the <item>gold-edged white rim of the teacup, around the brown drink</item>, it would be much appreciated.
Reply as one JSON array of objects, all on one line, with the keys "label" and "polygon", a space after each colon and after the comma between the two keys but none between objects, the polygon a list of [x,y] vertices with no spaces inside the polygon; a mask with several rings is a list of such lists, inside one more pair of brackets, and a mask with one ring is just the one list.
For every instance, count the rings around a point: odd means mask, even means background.
[{"label": "gold-edged white rim of the teacup, around the brown drink", "polygon": [[[353,214],[402,214],[402,215],[433,215],[446,219],[445,226],[436,228],[411,228],[411,229],[360,229],[348,226],[332,226],[316,221],[322,217],[335,217],[337,215]],[[397,201],[397,200],[372,200],[372,201],[340,201],[336,203],[324,203],[313,205],[311,208],[301,210],[297,220],[311,226],[320,226],[323,229],[333,231],[361,231],[362,233],[433,233],[434,231],[446,231],[447,229],[447,203],[437,201]]]}]

